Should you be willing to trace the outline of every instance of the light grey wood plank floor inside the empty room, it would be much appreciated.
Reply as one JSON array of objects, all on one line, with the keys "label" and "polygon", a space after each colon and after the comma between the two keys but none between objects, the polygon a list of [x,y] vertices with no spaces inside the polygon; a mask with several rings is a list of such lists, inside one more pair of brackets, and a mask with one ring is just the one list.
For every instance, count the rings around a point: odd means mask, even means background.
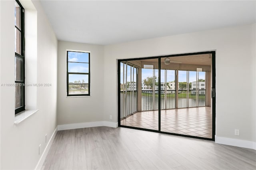
[{"label": "light grey wood plank floor inside the empty room", "polygon": [[130,128],[58,131],[42,170],[256,169],[256,150]]}]

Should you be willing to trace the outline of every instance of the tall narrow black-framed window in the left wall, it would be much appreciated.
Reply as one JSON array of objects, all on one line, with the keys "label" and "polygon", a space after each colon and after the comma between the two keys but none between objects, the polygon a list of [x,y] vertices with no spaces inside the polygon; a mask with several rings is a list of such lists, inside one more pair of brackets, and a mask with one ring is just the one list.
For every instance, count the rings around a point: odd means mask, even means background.
[{"label": "tall narrow black-framed window in the left wall", "polygon": [[24,8],[18,0],[14,8],[15,27],[15,114],[25,110]]}]

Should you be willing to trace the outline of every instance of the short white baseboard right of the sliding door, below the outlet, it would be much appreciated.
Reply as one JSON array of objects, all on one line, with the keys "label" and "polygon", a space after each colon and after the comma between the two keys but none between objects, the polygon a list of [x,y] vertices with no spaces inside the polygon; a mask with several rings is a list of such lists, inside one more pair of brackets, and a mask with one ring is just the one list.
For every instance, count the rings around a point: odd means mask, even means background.
[{"label": "short white baseboard right of the sliding door, below the outlet", "polygon": [[248,140],[240,140],[240,139],[234,139],[234,138],[225,138],[225,137],[215,136],[215,143],[256,150],[256,142],[252,142]]}]

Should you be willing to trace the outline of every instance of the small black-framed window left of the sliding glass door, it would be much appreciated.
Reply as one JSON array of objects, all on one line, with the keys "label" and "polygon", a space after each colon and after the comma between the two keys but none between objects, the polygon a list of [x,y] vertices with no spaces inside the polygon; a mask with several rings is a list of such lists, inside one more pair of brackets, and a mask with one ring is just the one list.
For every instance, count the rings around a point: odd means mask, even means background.
[{"label": "small black-framed window left of the sliding glass door", "polygon": [[67,95],[90,96],[90,53],[67,51]]}]

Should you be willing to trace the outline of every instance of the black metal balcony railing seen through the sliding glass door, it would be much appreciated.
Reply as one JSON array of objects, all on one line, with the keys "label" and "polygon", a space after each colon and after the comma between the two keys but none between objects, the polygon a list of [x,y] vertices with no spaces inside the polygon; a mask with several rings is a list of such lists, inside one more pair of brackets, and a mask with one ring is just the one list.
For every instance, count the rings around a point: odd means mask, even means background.
[{"label": "black metal balcony railing seen through the sliding glass door", "polygon": [[[198,92],[197,92],[198,91]],[[204,107],[206,90],[178,90],[178,108]],[[158,90],[142,90],[141,109],[142,111],[158,110]],[[176,91],[161,90],[161,109],[176,109]],[[198,94],[197,94],[198,93]],[[188,98],[187,98],[188,95]],[[154,96],[154,97],[153,97]],[[121,91],[121,119],[137,112],[137,91]],[[124,102],[123,102],[124,101]]]}]

